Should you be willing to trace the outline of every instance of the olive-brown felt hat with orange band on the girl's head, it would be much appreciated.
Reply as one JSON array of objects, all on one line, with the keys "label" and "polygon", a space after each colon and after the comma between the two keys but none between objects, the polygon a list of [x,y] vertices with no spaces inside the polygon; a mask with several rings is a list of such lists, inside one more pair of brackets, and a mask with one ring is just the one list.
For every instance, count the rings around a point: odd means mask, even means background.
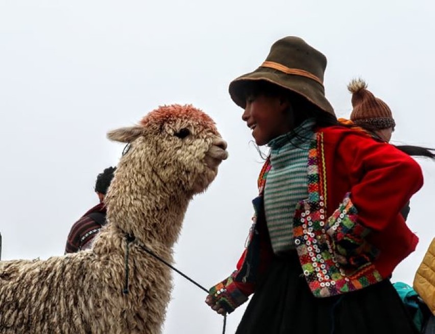
[{"label": "olive-brown felt hat with orange band on the girl's head", "polygon": [[304,96],[312,104],[335,116],[323,87],[326,63],[326,57],[303,39],[284,37],[272,45],[260,67],[233,80],[229,92],[235,104],[245,108],[247,83],[268,81]]}]

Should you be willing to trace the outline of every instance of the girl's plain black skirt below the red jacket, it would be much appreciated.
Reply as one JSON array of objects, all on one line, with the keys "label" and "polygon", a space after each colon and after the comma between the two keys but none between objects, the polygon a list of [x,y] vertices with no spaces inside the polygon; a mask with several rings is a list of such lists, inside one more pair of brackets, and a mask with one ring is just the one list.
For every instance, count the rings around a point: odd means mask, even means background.
[{"label": "girl's plain black skirt below the red jacket", "polygon": [[296,251],[275,257],[236,334],[416,334],[390,280],[328,298],[308,288]]}]

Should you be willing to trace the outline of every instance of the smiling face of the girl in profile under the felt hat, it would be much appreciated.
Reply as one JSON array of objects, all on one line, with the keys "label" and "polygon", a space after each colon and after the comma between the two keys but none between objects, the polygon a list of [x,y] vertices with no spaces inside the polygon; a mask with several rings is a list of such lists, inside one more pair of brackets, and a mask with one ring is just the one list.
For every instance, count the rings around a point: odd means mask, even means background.
[{"label": "smiling face of the girl in profile under the felt hat", "polygon": [[288,107],[288,101],[279,96],[247,96],[241,119],[252,130],[252,137],[257,145],[265,145],[292,130],[293,122]]}]

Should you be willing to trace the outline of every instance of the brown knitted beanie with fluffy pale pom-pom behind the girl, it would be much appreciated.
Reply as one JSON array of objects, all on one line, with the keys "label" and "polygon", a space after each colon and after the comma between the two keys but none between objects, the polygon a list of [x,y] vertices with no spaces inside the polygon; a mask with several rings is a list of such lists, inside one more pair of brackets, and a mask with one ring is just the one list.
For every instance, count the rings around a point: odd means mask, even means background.
[{"label": "brown knitted beanie with fluffy pale pom-pom behind the girl", "polygon": [[367,90],[364,80],[353,79],[347,88],[352,93],[351,121],[360,126],[368,125],[375,130],[396,126],[390,107]]}]

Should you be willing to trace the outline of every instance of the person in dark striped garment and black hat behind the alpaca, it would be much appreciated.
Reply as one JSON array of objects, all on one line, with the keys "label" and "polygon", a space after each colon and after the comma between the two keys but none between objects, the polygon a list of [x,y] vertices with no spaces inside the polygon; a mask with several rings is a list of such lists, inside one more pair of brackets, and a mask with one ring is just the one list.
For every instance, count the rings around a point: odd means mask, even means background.
[{"label": "person in dark striped garment and black hat behind the alpaca", "polygon": [[100,232],[101,227],[106,224],[104,196],[107,193],[115,170],[116,167],[108,167],[96,177],[95,193],[100,203],[88,210],[72,225],[66,240],[65,254],[89,249],[93,238]]}]

